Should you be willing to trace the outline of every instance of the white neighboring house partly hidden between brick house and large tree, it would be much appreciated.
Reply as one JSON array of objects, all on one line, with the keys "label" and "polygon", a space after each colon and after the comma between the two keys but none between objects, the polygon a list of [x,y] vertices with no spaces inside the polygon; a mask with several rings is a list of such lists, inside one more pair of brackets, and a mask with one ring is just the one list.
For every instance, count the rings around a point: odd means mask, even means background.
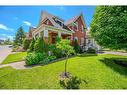
[{"label": "white neighboring house partly hidden between brick house and large tree", "polygon": [[90,35],[90,29],[88,28],[86,31],[86,50],[88,48],[94,48],[96,50],[101,50],[101,46],[97,44],[93,37]]}]

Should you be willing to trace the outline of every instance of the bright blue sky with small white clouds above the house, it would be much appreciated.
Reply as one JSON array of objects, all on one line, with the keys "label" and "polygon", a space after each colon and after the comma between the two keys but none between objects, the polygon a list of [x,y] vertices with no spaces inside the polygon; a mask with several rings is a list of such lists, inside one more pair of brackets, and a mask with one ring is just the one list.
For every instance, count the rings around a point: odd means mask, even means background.
[{"label": "bright blue sky with small white clouds above the house", "polygon": [[14,38],[18,28],[28,32],[39,23],[41,11],[47,11],[67,21],[83,13],[86,26],[90,26],[95,6],[0,6],[0,39]]}]

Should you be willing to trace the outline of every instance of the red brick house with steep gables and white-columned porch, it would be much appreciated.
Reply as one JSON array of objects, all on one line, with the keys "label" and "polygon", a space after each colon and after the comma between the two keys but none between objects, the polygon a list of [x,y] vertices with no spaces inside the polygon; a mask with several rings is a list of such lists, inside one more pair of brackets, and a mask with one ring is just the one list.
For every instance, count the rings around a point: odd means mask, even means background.
[{"label": "red brick house with steep gables and white-columned porch", "polygon": [[85,45],[86,24],[83,15],[80,14],[68,21],[58,16],[42,11],[39,24],[36,28],[30,27],[28,38],[37,39],[43,35],[46,43],[55,43],[57,36],[62,39],[69,39],[73,45],[74,40],[83,47]]}]

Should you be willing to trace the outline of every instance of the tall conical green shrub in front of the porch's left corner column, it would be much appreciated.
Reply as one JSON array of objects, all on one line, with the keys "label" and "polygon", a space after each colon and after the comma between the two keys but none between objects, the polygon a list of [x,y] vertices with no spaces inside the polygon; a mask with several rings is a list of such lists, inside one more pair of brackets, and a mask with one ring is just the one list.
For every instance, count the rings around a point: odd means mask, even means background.
[{"label": "tall conical green shrub in front of the porch's left corner column", "polygon": [[36,42],[34,44],[34,51],[40,52],[40,53],[47,51],[47,47],[46,47],[43,37],[40,37],[36,40]]}]

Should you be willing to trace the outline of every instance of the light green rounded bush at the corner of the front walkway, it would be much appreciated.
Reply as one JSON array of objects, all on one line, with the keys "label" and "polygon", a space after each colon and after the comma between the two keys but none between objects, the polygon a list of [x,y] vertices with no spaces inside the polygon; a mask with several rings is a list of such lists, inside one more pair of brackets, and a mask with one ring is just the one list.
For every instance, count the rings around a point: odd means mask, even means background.
[{"label": "light green rounded bush at the corner of the front walkway", "polygon": [[27,65],[35,65],[39,64],[40,61],[45,59],[44,53],[28,53],[26,56],[25,62]]}]

